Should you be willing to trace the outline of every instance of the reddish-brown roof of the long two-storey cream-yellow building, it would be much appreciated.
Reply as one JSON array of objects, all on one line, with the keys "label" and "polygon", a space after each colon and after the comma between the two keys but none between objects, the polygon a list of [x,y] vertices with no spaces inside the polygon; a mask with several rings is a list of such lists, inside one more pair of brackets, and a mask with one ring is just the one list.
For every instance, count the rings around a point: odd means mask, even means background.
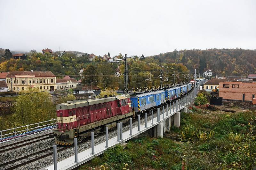
[{"label": "reddish-brown roof of the long two-storey cream-yellow building", "polygon": [[6,77],[15,76],[56,77],[52,71],[12,71]]}]

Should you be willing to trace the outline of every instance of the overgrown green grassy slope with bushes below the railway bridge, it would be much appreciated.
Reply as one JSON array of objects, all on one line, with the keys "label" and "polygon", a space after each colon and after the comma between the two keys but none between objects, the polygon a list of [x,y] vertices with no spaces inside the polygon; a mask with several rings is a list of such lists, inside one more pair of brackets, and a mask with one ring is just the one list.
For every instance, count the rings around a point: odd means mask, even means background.
[{"label": "overgrown green grassy slope with bushes below the railway bridge", "polygon": [[[135,139],[128,142],[126,149],[109,149],[80,169],[100,169],[104,163],[108,163],[109,169],[122,169],[124,163],[129,164],[129,169],[181,169],[182,164],[185,169],[250,169],[256,144],[251,138],[248,150],[246,135],[250,132],[248,123],[255,122],[251,121],[255,120],[255,112],[227,114],[197,108],[193,111],[194,114],[182,113],[181,128],[172,129],[172,133],[184,132],[188,143],[177,145],[167,138]],[[210,132],[214,136],[206,139]],[[251,157],[244,156],[249,151]]]}]

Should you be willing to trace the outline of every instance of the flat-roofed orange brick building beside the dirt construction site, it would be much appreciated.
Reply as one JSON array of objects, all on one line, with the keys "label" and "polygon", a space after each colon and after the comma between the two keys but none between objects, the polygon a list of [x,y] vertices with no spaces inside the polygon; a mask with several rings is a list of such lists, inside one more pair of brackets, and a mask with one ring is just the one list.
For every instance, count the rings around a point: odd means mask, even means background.
[{"label": "flat-roofed orange brick building beside the dirt construction site", "polygon": [[256,82],[220,82],[219,97],[223,100],[252,101],[256,97]]}]

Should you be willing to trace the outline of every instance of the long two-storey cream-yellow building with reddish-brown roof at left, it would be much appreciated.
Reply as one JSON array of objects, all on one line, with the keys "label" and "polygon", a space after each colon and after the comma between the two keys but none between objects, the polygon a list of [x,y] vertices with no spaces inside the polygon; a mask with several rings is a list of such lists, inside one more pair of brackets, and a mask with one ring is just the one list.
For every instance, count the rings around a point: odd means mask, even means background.
[{"label": "long two-storey cream-yellow building with reddish-brown roof at left", "polygon": [[56,76],[51,71],[12,71],[6,76],[10,91],[19,92],[29,88],[55,91]]}]

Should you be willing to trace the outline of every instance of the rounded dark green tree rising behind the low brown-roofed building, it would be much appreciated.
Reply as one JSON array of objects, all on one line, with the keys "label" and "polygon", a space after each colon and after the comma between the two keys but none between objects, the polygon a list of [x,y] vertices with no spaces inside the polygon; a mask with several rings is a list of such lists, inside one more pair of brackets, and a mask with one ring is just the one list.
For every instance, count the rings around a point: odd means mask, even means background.
[{"label": "rounded dark green tree rising behind the low brown-roofed building", "polygon": [[92,81],[93,85],[97,85],[97,70],[93,65],[88,65],[82,73],[82,84],[89,84]]}]

